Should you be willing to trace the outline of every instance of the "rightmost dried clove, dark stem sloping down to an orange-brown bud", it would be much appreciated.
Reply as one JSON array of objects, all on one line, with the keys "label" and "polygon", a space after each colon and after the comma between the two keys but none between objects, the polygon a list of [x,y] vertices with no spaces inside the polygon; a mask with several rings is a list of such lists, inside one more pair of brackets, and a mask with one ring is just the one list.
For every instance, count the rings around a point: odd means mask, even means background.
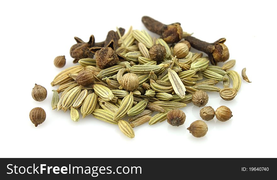
[{"label": "rightmost dried clove, dark stem sloping down to an orange-brown bud", "polygon": [[216,65],[218,62],[224,62],[229,59],[229,50],[224,44],[226,41],[225,38],[220,38],[213,43],[201,41],[191,36],[185,37],[185,40],[190,43],[191,47],[208,54],[212,65]]}]

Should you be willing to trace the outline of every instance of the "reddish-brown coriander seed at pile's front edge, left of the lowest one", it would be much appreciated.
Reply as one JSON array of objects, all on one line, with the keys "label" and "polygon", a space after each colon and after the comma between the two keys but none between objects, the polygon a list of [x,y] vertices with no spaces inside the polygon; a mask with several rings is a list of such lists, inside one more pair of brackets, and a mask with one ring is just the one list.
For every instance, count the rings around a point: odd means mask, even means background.
[{"label": "reddish-brown coriander seed at pile's front edge, left of the lowest one", "polygon": [[184,124],[186,115],[182,110],[174,109],[167,113],[167,122],[172,126],[180,126]]}]

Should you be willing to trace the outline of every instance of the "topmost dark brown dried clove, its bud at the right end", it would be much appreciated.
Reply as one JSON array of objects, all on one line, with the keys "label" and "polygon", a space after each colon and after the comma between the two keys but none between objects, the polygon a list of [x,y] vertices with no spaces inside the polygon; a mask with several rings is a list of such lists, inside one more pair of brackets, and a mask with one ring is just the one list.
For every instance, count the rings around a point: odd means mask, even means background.
[{"label": "topmost dark brown dried clove, its bud at the right end", "polygon": [[149,16],[143,16],[141,20],[149,31],[161,35],[161,38],[169,44],[178,42],[182,39],[183,29],[180,23],[165,25]]}]

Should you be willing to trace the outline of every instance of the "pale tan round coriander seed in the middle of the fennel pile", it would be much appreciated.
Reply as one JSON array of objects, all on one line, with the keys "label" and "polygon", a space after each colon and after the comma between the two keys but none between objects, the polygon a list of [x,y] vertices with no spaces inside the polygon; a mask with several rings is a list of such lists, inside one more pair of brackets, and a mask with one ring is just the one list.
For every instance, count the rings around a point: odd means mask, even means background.
[{"label": "pale tan round coriander seed in the middle of the fennel pile", "polygon": [[133,91],[139,87],[139,78],[134,73],[127,73],[122,76],[121,85],[126,91]]}]

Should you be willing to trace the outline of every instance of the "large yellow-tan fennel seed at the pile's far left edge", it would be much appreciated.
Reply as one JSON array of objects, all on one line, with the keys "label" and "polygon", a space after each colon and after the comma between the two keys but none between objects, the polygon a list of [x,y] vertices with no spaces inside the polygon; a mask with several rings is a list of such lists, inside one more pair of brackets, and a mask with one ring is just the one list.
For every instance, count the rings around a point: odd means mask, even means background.
[{"label": "large yellow-tan fennel seed at the pile's far left edge", "polygon": [[56,86],[56,85],[62,85],[67,82],[72,81],[71,77],[68,76],[69,73],[78,73],[80,71],[84,70],[84,67],[81,65],[76,65],[76,66],[71,66],[63,71],[61,71],[51,82],[51,86]]}]

